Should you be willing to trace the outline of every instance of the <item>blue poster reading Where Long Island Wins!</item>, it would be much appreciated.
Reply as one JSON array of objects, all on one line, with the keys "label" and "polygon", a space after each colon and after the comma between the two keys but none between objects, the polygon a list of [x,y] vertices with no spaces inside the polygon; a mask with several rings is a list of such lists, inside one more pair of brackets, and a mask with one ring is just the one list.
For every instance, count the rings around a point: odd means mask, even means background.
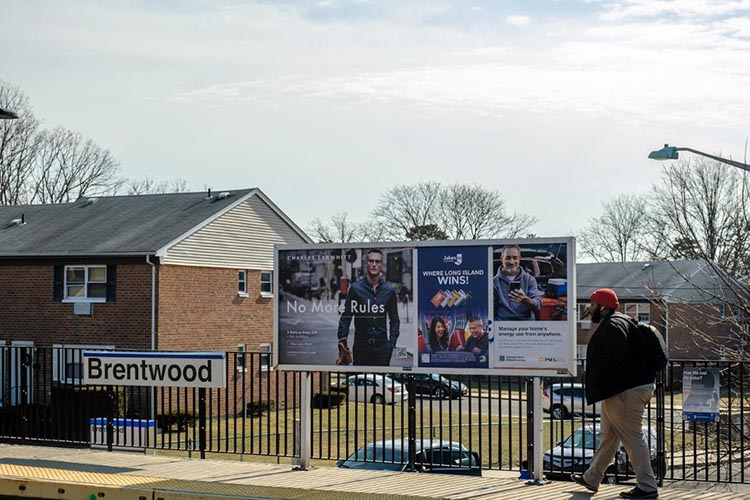
[{"label": "blue poster reading Where Long Island Wins!", "polygon": [[486,246],[418,250],[420,367],[489,367],[488,257]]}]

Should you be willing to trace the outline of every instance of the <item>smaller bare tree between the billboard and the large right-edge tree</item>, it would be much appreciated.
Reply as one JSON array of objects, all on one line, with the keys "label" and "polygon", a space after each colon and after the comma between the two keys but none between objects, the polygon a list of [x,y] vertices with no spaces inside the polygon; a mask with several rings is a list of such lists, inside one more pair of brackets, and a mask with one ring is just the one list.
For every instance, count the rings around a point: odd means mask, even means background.
[{"label": "smaller bare tree between the billboard and the large right-edge tree", "polygon": [[581,253],[597,262],[649,258],[645,245],[650,227],[647,206],[645,197],[635,194],[622,194],[602,203],[602,215],[589,219],[579,235]]}]

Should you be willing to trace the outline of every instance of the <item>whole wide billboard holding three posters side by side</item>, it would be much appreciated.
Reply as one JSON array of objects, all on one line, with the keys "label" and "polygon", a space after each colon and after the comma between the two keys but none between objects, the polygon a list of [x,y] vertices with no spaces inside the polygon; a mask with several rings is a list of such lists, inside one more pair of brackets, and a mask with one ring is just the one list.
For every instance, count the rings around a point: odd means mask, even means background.
[{"label": "whole wide billboard holding three posters side by side", "polygon": [[574,376],[575,240],[277,245],[285,370]]}]

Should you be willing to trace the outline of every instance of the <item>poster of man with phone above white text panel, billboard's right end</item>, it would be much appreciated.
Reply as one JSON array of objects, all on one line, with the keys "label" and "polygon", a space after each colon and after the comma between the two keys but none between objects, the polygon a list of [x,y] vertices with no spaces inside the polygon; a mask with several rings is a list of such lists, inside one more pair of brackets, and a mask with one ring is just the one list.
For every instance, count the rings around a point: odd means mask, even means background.
[{"label": "poster of man with phone above white text panel, billboard's right end", "polygon": [[568,245],[518,241],[493,245],[492,255],[492,366],[567,369],[575,356]]}]

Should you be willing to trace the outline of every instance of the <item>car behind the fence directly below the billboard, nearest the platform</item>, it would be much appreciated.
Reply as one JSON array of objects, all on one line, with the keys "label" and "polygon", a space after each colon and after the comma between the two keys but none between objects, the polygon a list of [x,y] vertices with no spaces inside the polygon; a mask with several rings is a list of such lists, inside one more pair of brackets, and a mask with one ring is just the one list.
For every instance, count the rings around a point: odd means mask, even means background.
[{"label": "car behind the fence directly below the billboard, nearest the platform", "polygon": [[[416,446],[414,465],[417,472],[482,475],[479,454],[461,443],[418,439]],[[404,438],[368,443],[336,465],[344,469],[407,471],[410,470],[409,441]]]}]

